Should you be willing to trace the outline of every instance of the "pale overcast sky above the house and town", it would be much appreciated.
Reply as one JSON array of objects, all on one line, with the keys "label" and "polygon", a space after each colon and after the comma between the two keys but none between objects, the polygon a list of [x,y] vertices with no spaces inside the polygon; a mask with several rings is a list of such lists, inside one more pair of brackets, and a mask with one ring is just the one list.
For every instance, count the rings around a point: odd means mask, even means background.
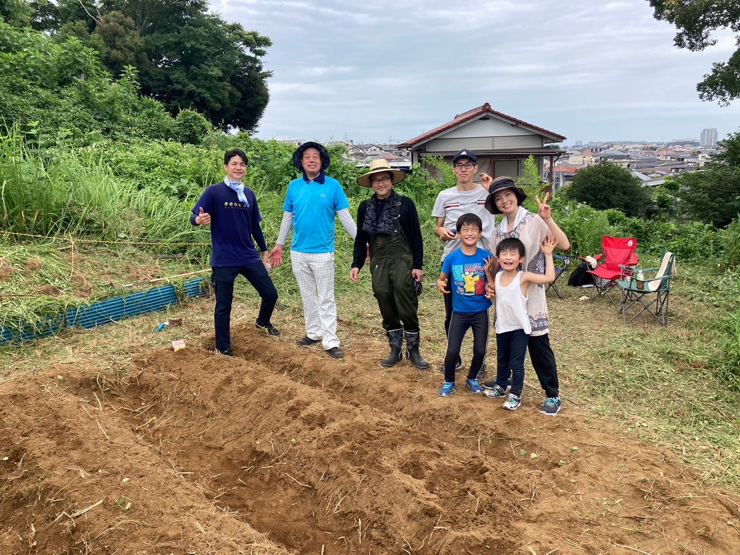
[{"label": "pale overcast sky above the house and town", "polygon": [[216,0],[228,21],[272,38],[261,138],[405,141],[485,102],[575,141],[720,138],[740,101],[696,84],[735,50],[701,53],[647,0]]}]

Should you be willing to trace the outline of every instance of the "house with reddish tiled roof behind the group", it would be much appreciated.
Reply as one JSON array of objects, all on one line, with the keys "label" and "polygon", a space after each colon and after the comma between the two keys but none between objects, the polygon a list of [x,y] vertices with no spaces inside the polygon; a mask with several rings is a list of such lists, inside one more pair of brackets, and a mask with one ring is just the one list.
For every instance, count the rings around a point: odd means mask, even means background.
[{"label": "house with reddish tiled roof behind the group", "polygon": [[563,135],[497,112],[486,102],[398,146],[411,150],[412,164],[424,164],[424,157],[429,155],[440,155],[451,162],[455,152],[471,149],[478,158],[479,175],[485,172],[497,178],[522,175],[529,155],[534,156],[540,174],[545,164],[552,169],[565,150],[548,144],[562,141]]}]

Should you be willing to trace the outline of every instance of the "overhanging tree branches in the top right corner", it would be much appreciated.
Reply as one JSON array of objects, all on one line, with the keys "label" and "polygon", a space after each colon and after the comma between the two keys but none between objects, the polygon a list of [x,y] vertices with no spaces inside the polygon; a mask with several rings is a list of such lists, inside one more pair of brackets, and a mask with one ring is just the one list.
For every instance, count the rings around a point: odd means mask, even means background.
[{"label": "overhanging tree branches in the top right corner", "polygon": [[[653,7],[655,19],[668,21],[678,28],[673,43],[679,48],[693,52],[716,44],[711,33],[729,27],[740,32],[740,2],[738,0],[648,0]],[[704,75],[704,81],[696,85],[699,98],[716,100],[727,106],[740,98],[740,36],[738,50],[726,62],[712,64],[712,73]]]}]

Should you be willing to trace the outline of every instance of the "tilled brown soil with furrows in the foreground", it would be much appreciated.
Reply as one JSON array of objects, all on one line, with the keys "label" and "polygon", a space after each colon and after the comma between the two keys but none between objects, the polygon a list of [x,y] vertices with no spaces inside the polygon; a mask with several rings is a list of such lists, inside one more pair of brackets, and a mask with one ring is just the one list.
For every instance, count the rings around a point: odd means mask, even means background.
[{"label": "tilled brown soil with furrows in the foreground", "polygon": [[2,384],[0,554],[739,552],[736,497],[567,400],[438,397],[362,345],[234,350]]}]

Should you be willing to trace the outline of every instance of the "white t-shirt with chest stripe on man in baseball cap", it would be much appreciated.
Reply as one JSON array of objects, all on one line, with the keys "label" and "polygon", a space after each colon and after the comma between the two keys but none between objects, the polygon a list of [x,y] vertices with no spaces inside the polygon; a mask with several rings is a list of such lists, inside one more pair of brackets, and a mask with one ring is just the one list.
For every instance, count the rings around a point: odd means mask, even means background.
[{"label": "white t-shirt with chest stripe on man in baseball cap", "polygon": [[[450,187],[441,191],[437,195],[437,201],[434,201],[434,208],[431,210],[433,218],[445,218],[444,226],[447,229],[457,229],[457,218],[463,214],[471,212],[477,215],[483,222],[483,235],[478,246],[481,249],[488,249],[491,240],[491,234],[496,226],[494,215],[485,209],[485,199],[488,197],[488,191],[482,186],[477,186],[471,191],[461,191],[457,186]],[[442,260],[454,249],[459,249],[461,245],[459,238],[445,241],[445,249],[442,252]]]}]

